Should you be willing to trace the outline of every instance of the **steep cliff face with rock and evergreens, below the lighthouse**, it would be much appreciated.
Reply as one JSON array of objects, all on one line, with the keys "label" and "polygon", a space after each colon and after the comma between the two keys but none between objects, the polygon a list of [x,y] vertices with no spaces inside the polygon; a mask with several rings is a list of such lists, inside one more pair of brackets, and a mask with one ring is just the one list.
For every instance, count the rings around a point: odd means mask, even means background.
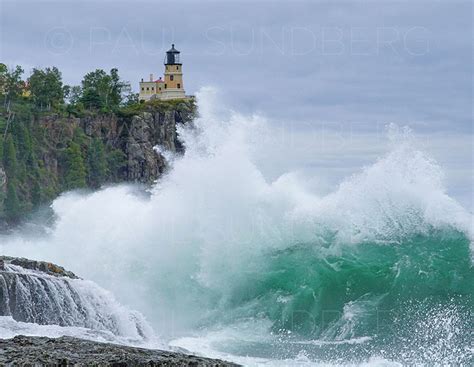
[{"label": "steep cliff face with rock and evergreens, below the lighthouse", "polygon": [[[150,184],[166,170],[159,151],[182,153],[177,126],[193,100],[152,101],[116,113],[18,114],[0,149],[0,222],[15,223],[61,192],[118,182]],[[3,130],[0,130],[3,131]]]}]

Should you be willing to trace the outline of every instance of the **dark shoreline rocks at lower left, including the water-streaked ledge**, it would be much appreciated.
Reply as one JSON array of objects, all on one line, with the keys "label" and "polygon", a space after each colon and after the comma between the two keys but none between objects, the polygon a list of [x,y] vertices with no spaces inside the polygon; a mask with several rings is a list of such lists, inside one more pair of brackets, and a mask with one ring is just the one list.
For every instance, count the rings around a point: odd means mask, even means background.
[{"label": "dark shoreline rocks at lower left, including the water-streaked ledge", "polygon": [[[117,309],[117,305],[110,299],[107,302],[113,307],[107,306],[104,297],[108,294],[103,293],[104,290],[95,286],[90,290],[93,293],[84,293],[83,287],[75,288],[77,282],[83,280],[53,263],[0,256],[0,317],[10,318],[13,323],[21,322],[22,326],[93,327],[95,330],[90,330],[91,335],[96,332],[102,336],[117,335],[123,331],[119,327],[121,320],[133,319],[132,326],[136,328],[134,337],[146,340],[147,327],[140,315],[134,312],[112,314],[110,311]],[[93,310],[95,305],[99,306]],[[16,325],[13,329],[6,327],[8,331],[14,330],[6,335],[23,333]],[[38,335],[37,331],[33,335]],[[0,339],[0,366],[220,367],[236,364],[174,351],[98,342],[95,339],[17,335],[12,339]]]}]

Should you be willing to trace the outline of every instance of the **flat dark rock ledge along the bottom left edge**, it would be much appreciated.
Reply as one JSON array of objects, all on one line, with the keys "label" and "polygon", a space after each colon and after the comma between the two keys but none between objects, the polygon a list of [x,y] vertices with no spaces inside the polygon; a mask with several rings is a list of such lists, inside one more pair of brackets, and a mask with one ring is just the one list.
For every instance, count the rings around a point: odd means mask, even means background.
[{"label": "flat dark rock ledge along the bottom left edge", "polygon": [[0,339],[0,366],[237,366],[182,353],[125,347],[72,337]]}]

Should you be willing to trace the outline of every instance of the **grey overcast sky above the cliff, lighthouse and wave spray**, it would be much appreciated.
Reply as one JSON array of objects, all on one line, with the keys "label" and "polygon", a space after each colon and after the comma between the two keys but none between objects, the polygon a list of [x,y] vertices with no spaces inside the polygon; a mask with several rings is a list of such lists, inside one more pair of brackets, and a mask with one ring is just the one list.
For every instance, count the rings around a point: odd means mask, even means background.
[{"label": "grey overcast sky above the cliff, lighthouse and wave spray", "polygon": [[[471,1],[0,2],[7,65],[55,65],[69,84],[117,67],[137,90],[162,74],[175,43],[188,94],[213,85],[276,126],[356,135],[337,149],[334,177],[383,152],[385,124],[410,125],[472,208]],[[321,168],[334,156],[325,149],[311,150],[317,160],[279,156],[288,168]]]}]

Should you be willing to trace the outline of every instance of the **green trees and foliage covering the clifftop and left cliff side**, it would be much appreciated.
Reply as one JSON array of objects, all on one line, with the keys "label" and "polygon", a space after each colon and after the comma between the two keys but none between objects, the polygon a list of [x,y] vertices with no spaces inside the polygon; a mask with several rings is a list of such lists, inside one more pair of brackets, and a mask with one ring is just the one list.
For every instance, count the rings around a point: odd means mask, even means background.
[{"label": "green trees and foliage covering the clifftop and left cliff side", "polygon": [[[34,69],[30,97],[22,96],[22,74],[21,67],[9,70],[0,63],[0,169],[7,176],[6,187],[0,187],[0,222],[17,223],[63,191],[125,180],[121,141],[134,115],[175,111],[179,121],[181,114],[186,120],[196,110],[192,100],[140,103],[117,69],[91,72],[81,86],[63,85],[55,67]],[[103,121],[123,124],[118,139],[71,118],[102,120],[101,114],[110,115]]]}]

